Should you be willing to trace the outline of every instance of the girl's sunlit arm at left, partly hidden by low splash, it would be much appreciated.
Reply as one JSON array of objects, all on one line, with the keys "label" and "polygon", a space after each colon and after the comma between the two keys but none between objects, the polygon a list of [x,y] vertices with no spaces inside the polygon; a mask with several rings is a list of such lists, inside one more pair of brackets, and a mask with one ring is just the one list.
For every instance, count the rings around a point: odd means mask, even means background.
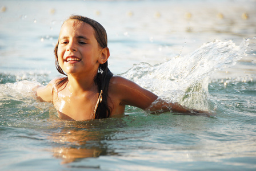
[{"label": "girl's sunlit arm at left, partly hidden by low splash", "polygon": [[53,101],[53,88],[57,79],[53,79],[46,86],[37,86],[33,88],[34,98],[38,101]]}]

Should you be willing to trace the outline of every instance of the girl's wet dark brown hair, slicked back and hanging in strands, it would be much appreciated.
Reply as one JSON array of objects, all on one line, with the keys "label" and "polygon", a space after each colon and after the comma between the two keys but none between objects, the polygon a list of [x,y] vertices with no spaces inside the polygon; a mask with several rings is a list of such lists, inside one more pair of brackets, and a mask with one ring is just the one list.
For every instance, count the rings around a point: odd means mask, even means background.
[{"label": "girl's wet dark brown hair, slicked back and hanging in strands", "polygon": [[[99,47],[105,48],[107,47],[107,32],[105,28],[98,23],[97,21],[94,21],[93,19],[83,17],[81,15],[71,15],[69,19],[75,19],[80,22],[87,23],[94,29],[94,36],[98,42]],[[67,20],[69,20],[67,19]],[[66,20],[66,21],[67,21]],[[64,22],[65,23],[65,22]],[[59,66],[58,63],[58,44],[56,44],[54,48],[54,54],[55,54],[55,66],[59,73],[66,75],[65,72],[63,72],[62,68]],[[98,73],[95,76],[94,82],[98,86],[98,92],[102,93],[102,100],[99,101],[98,107],[96,112],[94,113],[95,119],[102,119],[110,116],[111,108],[107,104],[108,97],[108,89],[109,89],[109,82],[111,77],[113,76],[112,72],[107,67],[107,61],[103,64],[99,64]],[[67,83],[69,80],[66,78],[63,78],[59,80],[59,82],[56,84],[57,89],[61,87],[63,84]]]}]

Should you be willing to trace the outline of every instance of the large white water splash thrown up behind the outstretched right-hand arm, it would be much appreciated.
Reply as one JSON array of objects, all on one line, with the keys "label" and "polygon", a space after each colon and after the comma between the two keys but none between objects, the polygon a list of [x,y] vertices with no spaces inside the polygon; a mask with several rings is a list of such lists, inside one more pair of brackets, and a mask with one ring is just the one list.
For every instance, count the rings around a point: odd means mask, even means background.
[{"label": "large white water splash thrown up behind the outstretched right-hand arm", "polygon": [[217,70],[233,66],[246,56],[250,39],[240,46],[231,40],[205,43],[193,53],[155,66],[147,63],[134,65],[123,77],[149,89],[161,99],[178,102],[189,108],[210,110],[209,76]]}]

